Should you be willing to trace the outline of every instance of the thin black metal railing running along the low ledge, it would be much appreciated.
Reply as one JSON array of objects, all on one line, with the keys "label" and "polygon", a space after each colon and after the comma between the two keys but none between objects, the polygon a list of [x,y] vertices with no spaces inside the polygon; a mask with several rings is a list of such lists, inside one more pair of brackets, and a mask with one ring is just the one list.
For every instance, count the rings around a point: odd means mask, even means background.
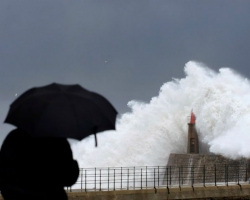
[{"label": "thin black metal railing running along the low ledge", "polygon": [[87,192],[193,187],[195,184],[228,186],[240,185],[248,177],[248,165],[81,168],[72,189]]}]

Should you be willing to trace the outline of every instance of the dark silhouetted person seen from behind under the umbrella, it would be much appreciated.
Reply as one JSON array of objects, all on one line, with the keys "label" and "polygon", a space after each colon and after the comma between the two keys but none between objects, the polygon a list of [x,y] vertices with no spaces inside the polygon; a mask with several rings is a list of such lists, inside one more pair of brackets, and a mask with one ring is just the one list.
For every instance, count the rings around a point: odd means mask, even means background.
[{"label": "dark silhouetted person seen from behind under the umbrella", "polygon": [[66,200],[64,187],[79,175],[65,138],[32,137],[15,129],[0,151],[0,190],[5,200]]}]

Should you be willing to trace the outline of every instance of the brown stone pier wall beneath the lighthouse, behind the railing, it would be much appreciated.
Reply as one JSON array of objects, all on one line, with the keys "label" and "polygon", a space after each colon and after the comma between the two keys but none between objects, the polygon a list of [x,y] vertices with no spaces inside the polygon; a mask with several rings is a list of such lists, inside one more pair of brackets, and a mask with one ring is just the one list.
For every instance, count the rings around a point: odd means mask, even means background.
[{"label": "brown stone pier wall beneath the lighthouse, behind the railing", "polygon": [[163,184],[167,179],[168,184],[247,181],[249,164],[248,159],[232,160],[213,154],[170,154]]}]

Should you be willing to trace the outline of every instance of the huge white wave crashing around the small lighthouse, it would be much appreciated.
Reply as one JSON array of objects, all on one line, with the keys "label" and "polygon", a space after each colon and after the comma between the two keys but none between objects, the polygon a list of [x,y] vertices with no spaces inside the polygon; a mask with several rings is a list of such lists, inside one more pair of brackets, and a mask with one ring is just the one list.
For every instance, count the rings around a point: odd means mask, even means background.
[{"label": "huge white wave crashing around the small lighthouse", "polygon": [[250,82],[229,68],[215,72],[190,61],[186,77],[164,83],[149,103],[130,101],[116,131],[72,144],[80,167],[164,166],[186,153],[193,109],[201,153],[250,158]]}]

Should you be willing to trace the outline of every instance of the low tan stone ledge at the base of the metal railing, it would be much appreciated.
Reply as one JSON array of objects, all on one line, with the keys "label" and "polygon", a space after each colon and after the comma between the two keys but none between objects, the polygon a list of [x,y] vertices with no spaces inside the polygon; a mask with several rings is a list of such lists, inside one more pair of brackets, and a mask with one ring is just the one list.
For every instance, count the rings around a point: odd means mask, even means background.
[{"label": "low tan stone ledge at the base of the metal railing", "polygon": [[109,192],[71,192],[69,200],[250,199],[250,185]]}]

